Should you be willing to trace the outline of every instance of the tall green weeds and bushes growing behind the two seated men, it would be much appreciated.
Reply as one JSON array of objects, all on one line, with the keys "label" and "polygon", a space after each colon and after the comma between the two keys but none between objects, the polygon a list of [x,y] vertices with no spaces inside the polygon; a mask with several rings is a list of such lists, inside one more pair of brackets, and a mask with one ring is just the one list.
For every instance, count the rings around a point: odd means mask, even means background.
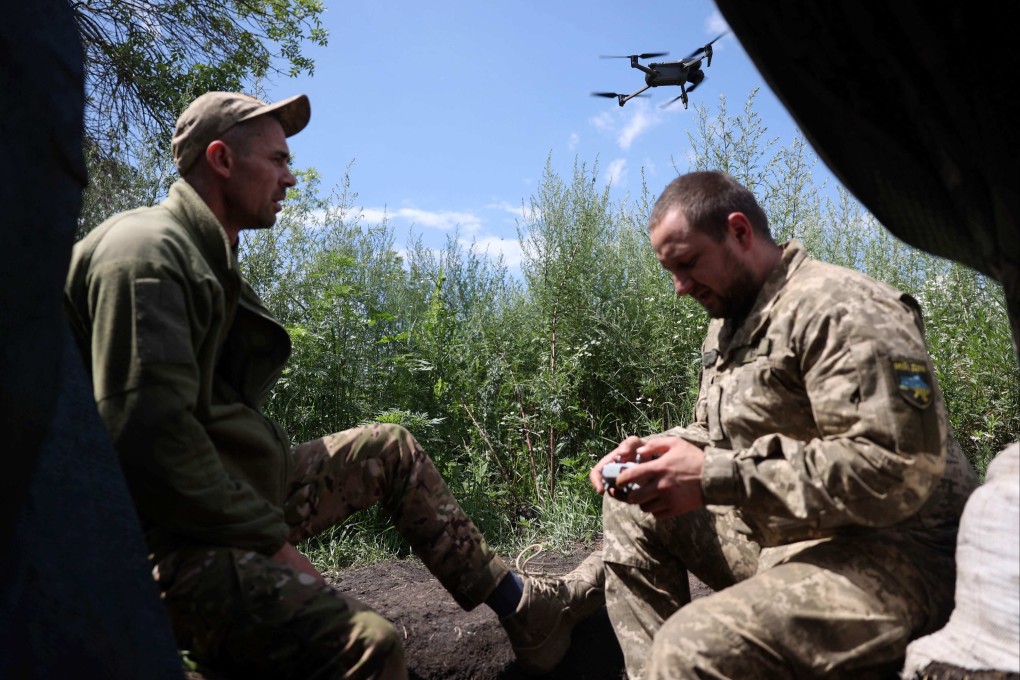
[{"label": "tall green weeds and bushes growing behind the two seated men", "polygon": [[[262,5],[260,5],[262,6]],[[983,470],[1020,438],[1020,367],[998,284],[891,237],[842,188],[814,181],[803,139],[767,136],[755,93],[731,117],[697,108],[690,168],[723,168],[763,197],[776,238],[915,296],[957,438]],[[165,165],[133,150],[97,153],[83,229],[165,192]],[[293,355],[266,410],[295,442],[367,422],[423,444],[494,544],[568,546],[601,528],[592,465],[627,434],[683,424],[694,411],[702,308],[677,298],[647,234],[655,196],[614,201],[597,165],[569,177],[546,159],[518,224],[515,277],[451,233],[440,249],[387,219],[365,224],[350,166],[323,193],[299,171],[272,229],[242,236],[241,266],[288,328]],[[377,509],[309,541],[325,569],[407,546]]]}]

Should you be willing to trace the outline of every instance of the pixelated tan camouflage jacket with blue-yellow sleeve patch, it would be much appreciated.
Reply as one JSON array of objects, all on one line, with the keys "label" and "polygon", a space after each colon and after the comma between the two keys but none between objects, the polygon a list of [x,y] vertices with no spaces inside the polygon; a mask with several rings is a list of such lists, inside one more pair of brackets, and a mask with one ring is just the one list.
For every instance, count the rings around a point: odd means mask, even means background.
[{"label": "pixelated tan camouflage jacket with blue-yellow sleeve patch", "polygon": [[695,421],[669,433],[763,545],[897,527],[951,546],[976,485],[917,302],[797,241],[743,323],[709,325]]}]

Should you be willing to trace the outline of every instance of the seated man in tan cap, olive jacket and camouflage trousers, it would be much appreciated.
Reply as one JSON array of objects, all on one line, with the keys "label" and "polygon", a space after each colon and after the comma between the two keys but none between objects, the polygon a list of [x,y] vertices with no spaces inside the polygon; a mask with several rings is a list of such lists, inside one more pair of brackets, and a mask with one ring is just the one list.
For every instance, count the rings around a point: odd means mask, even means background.
[{"label": "seated man in tan cap, olive jacket and camouflage trousers", "polygon": [[65,310],[177,642],[242,677],[406,677],[393,625],[295,547],[380,503],[454,598],[490,606],[524,669],[549,671],[604,601],[601,563],[514,574],[404,428],[292,449],[262,413],[291,343],[239,273],[238,233],[275,222],[296,184],[286,138],[310,115],[304,95],[199,97],[177,120],[169,197],[114,215],[71,258]]}]

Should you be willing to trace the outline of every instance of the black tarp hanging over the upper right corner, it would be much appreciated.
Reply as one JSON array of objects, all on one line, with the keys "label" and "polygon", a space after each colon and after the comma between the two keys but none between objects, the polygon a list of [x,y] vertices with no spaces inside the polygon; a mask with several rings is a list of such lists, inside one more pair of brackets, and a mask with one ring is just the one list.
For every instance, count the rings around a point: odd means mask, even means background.
[{"label": "black tarp hanging over the upper right corner", "polygon": [[1020,362],[1020,48],[1008,5],[716,4],[883,226],[1002,283]]}]

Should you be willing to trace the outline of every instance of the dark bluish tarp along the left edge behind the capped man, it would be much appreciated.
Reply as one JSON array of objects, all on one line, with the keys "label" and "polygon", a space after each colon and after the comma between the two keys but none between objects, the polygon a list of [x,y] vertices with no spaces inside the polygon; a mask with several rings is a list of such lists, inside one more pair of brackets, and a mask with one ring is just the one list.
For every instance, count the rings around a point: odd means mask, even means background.
[{"label": "dark bluish tarp along the left edge behind the capped man", "polygon": [[0,0],[0,678],[184,677],[61,307],[85,186],[66,0]]}]

